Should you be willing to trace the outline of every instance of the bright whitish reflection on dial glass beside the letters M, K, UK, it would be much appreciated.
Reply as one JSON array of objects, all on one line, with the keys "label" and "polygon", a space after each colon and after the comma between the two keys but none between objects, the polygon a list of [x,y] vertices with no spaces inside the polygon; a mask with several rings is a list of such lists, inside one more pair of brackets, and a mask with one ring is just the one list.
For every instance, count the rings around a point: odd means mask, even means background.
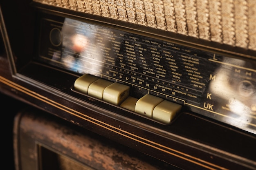
[{"label": "bright whitish reflection on dial glass beside the letters M, K, UK", "polygon": [[256,115],[253,64],[227,57],[223,63],[216,69],[209,91],[218,96],[218,107],[225,110],[222,121],[246,129]]}]

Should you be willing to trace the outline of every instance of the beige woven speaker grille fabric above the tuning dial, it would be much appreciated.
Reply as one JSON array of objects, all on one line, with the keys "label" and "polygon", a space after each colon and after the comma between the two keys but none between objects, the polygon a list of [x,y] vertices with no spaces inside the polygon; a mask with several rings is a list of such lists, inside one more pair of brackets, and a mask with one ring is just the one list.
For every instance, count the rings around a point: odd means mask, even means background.
[{"label": "beige woven speaker grille fabric above the tuning dial", "polygon": [[256,50],[255,0],[34,0]]}]

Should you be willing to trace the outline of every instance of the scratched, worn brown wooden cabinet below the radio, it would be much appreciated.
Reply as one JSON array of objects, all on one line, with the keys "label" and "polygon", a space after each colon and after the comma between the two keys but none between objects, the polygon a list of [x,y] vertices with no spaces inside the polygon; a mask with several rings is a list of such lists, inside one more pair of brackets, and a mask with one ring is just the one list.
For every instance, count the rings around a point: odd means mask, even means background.
[{"label": "scratched, worn brown wooden cabinet below the radio", "polygon": [[21,110],[15,119],[17,170],[178,170],[57,117],[34,111]]}]

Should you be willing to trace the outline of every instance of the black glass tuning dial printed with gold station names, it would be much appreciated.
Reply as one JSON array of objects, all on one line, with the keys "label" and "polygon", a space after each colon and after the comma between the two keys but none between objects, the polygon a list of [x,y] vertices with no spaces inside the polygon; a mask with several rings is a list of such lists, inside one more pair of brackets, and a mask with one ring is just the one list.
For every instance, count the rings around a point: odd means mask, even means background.
[{"label": "black glass tuning dial printed with gold station names", "polygon": [[[64,19],[64,18],[63,18]],[[256,62],[65,18],[44,20],[40,57],[54,66],[132,85],[256,134]]]}]

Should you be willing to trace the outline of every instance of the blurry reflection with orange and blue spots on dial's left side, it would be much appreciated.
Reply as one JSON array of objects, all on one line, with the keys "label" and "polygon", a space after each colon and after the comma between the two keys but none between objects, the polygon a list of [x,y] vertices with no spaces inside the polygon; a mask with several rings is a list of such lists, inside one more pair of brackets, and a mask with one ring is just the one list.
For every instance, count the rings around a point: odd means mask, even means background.
[{"label": "blurry reflection with orange and blue spots on dial's left side", "polygon": [[[105,38],[101,32],[96,26],[65,18],[61,30],[63,42],[59,61],[68,70],[77,73],[99,70],[101,64],[93,61],[103,62],[103,55],[99,51],[103,48]],[[53,59],[56,60],[54,55]]]}]

